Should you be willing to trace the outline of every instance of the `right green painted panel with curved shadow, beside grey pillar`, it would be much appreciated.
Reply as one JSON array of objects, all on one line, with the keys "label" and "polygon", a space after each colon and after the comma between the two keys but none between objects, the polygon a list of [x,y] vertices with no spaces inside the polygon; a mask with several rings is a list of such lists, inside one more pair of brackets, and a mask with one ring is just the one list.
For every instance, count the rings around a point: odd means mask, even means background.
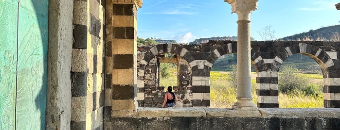
[{"label": "right green painted panel with curved shadow, beside grey pillar", "polygon": [[20,0],[16,128],[45,130],[48,0]]}]

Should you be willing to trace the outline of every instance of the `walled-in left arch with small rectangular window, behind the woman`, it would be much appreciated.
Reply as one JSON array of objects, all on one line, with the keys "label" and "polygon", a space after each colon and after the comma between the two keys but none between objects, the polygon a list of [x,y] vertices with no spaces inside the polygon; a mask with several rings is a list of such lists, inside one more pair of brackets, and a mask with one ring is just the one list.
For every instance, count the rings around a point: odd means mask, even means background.
[{"label": "walled-in left arch with small rectangular window, behind the woman", "polygon": [[173,86],[173,92],[179,99],[176,107],[192,107],[191,68],[179,54],[154,56],[143,72],[143,92],[139,91],[143,97],[138,99],[139,107],[161,107],[168,86]]}]

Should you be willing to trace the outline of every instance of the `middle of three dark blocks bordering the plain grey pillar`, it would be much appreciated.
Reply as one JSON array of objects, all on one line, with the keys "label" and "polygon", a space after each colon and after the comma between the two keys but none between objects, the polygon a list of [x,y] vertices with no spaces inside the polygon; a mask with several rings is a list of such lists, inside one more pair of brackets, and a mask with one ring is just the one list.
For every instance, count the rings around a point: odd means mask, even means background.
[{"label": "middle of three dark blocks bordering the plain grey pillar", "polygon": [[72,97],[86,96],[87,90],[87,72],[72,72]]}]

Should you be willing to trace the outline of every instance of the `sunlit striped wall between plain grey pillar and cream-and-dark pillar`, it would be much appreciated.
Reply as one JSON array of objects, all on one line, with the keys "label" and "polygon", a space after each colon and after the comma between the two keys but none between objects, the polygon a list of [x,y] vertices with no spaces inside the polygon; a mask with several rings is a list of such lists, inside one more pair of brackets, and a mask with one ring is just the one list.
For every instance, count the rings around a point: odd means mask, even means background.
[{"label": "sunlit striped wall between plain grey pillar and cream-and-dark pillar", "polygon": [[105,3],[73,4],[71,129],[103,129]]}]

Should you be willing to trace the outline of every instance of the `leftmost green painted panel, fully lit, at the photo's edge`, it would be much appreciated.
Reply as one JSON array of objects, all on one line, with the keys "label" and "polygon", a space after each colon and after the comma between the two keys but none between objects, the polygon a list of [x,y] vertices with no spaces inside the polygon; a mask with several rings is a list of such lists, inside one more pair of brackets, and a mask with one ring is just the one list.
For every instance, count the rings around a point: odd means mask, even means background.
[{"label": "leftmost green painted panel, fully lit, at the photo's edge", "polygon": [[0,0],[0,130],[14,130],[18,0]]}]

